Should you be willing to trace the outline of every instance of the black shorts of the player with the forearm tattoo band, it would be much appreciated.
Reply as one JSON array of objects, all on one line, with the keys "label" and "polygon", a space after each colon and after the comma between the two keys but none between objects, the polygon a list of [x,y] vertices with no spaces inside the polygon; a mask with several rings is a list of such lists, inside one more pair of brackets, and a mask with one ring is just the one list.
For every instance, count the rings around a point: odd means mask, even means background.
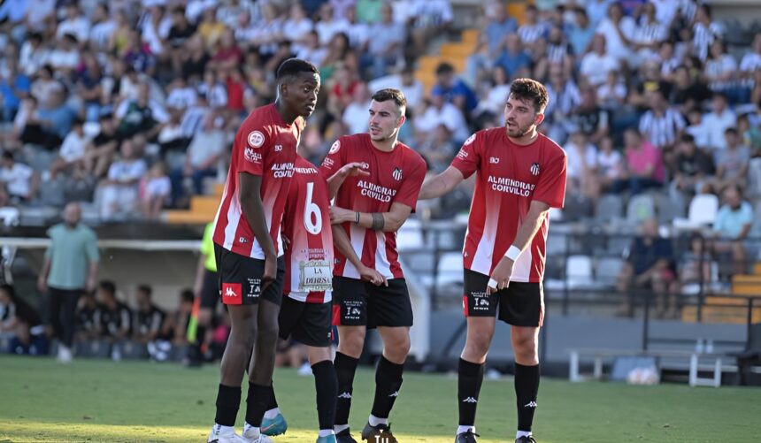
[{"label": "black shorts of the player with the forearm tattoo band", "polygon": [[333,324],[336,326],[411,326],[407,282],[389,279],[388,287],[360,279],[333,278]]}]

